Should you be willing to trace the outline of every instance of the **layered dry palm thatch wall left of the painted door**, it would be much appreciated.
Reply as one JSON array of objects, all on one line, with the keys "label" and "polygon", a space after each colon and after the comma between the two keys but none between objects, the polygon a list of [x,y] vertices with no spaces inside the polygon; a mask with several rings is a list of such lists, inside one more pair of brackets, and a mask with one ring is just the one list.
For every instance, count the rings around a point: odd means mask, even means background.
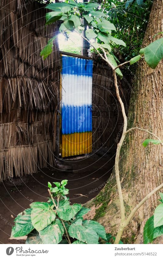
[{"label": "layered dry palm thatch wall left of the painted door", "polygon": [[0,0],[0,180],[55,164],[59,98],[59,48],[43,61],[40,51],[58,30],[45,28],[34,0]]}]

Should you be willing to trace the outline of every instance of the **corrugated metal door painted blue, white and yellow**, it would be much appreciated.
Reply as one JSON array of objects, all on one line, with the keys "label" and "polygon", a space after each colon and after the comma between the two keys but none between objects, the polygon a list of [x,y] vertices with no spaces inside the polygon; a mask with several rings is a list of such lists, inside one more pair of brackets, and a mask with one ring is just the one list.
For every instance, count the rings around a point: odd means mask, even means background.
[{"label": "corrugated metal door painted blue, white and yellow", "polygon": [[91,59],[62,56],[62,157],[92,151],[92,69]]}]

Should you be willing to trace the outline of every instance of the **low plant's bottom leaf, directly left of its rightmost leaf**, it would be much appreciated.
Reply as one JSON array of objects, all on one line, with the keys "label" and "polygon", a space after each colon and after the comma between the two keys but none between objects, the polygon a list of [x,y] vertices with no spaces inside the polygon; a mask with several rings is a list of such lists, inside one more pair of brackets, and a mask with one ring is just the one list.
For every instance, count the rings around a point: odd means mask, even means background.
[{"label": "low plant's bottom leaf, directly left of its rightmost leaf", "polygon": [[99,237],[97,233],[92,229],[85,228],[81,224],[70,225],[69,235],[72,238],[76,238],[82,242],[86,242],[87,244],[98,244]]}]

